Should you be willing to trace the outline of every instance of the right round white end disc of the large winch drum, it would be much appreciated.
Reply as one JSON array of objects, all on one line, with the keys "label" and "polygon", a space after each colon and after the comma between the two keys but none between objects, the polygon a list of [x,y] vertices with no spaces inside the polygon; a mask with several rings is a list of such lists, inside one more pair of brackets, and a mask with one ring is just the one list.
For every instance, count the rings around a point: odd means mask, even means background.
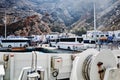
[{"label": "right round white end disc of the large winch drum", "polygon": [[98,62],[103,62],[105,69],[117,67],[114,54],[110,50],[102,50],[91,62],[90,80],[100,80],[97,66]]}]

